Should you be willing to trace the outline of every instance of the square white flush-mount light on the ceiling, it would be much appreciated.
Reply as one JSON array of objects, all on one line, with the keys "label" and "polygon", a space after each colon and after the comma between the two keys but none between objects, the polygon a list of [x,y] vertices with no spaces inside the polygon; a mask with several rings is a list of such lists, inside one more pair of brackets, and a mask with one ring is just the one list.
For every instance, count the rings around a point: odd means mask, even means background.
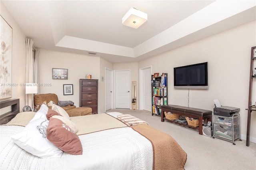
[{"label": "square white flush-mount light on the ceiling", "polygon": [[122,18],[122,24],[132,28],[139,28],[144,22],[148,20],[148,14],[131,8]]}]

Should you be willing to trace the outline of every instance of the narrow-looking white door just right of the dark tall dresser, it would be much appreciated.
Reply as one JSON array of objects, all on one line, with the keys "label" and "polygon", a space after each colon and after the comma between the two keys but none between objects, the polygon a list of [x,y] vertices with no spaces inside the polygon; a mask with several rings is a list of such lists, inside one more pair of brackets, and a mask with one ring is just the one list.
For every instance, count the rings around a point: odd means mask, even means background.
[{"label": "narrow-looking white door just right of the dark tall dresser", "polygon": [[106,69],[106,111],[113,109],[113,71]]}]

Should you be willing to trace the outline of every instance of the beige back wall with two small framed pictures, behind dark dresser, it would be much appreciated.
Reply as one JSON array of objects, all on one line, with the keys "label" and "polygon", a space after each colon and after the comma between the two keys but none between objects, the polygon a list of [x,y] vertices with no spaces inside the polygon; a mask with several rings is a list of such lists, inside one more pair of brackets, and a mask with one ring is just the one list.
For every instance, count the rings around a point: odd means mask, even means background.
[{"label": "beige back wall with two small framed pictures, behind dark dresser", "polygon": [[[38,61],[39,83],[51,84],[40,87],[39,93],[55,93],[60,101],[73,101],[77,107],[79,79],[85,79],[86,74],[92,75],[92,79],[100,79],[100,57],[40,49]],[[52,79],[52,68],[68,69],[68,80]],[[64,84],[73,84],[74,95],[63,95]]]}]

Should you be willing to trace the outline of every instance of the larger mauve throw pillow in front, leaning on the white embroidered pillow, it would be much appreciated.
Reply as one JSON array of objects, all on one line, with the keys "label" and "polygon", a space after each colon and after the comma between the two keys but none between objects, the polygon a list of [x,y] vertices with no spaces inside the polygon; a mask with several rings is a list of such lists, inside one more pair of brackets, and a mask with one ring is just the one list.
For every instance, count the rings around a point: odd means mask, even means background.
[{"label": "larger mauve throw pillow in front, leaning on the white embroidered pillow", "polygon": [[82,144],[77,134],[60,119],[50,118],[46,129],[46,137],[55,146],[73,155],[83,152]]}]

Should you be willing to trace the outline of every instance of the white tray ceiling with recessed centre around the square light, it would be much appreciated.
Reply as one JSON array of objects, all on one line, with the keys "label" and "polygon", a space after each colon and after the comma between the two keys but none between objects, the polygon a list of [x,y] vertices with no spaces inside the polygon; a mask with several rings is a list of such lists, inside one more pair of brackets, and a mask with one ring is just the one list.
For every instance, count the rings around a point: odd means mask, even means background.
[{"label": "white tray ceiling with recessed centre around the square light", "polygon": [[[255,0],[2,0],[41,49],[113,63],[140,61],[256,19]],[[138,29],[122,25],[130,8],[148,14]]]}]

